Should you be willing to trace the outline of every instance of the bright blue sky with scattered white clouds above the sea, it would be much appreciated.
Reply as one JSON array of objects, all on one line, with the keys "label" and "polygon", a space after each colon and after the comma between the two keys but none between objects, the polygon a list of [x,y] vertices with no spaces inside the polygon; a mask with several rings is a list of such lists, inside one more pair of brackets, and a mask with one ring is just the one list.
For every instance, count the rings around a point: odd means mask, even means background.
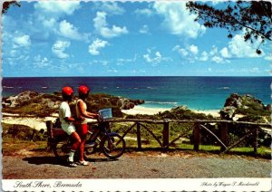
[{"label": "bright blue sky with scattered white clouds above the sea", "polygon": [[185,3],[22,1],[2,16],[2,76],[269,76],[271,43],[257,55]]}]

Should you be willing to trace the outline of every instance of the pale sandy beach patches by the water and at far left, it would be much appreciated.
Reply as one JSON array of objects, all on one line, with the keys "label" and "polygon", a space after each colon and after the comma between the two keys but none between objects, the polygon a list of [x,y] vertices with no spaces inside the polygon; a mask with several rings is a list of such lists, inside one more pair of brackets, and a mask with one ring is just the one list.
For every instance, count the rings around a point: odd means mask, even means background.
[{"label": "pale sandy beach patches by the water and at far left", "polygon": [[[136,114],[147,114],[147,115],[154,115],[159,112],[170,110],[165,108],[146,108],[142,106],[135,106],[131,110],[121,110],[123,113],[128,115],[136,115]],[[219,110],[193,110],[194,112],[198,113],[205,113],[210,114],[213,117],[219,117]],[[6,114],[2,113],[3,117],[1,122],[7,123],[7,124],[19,124],[19,125],[25,125],[29,126],[30,128],[33,128],[35,130],[46,130],[45,122],[46,120],[55,120],[57,115],[54,114],[52,117],[46,117],[46,118],[36,118],[36,117],[18,117],[15,114]]]}]

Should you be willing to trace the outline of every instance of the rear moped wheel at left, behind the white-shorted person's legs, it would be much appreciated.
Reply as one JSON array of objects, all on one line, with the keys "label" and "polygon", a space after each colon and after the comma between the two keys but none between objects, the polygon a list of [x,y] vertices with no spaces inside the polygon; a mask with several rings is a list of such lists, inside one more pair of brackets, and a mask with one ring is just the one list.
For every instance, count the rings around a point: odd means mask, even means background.
[{"label": "rear moped wheel at left, behind the white-shorted person's legs", "polygon": [[58,141],[55,146],[53,146],[53,154],[56,158],[61,160],[66,160],[70,152],[70,145],[66,141]]}]

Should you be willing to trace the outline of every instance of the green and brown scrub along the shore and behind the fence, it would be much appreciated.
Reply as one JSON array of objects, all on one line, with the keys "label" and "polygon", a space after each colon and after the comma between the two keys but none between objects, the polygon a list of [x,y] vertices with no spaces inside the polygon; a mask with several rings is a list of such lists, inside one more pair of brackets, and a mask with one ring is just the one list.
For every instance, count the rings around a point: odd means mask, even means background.
[{"label": "green and brown scrub along the shore and behind the fence", "polygon": [[[36,94],[34,98],[26,101],[21,101],[16,107],[5,107],[3,111],[18,113],[20,115],[34,115],[37,117],[49,116],[53,112],[58,112],[58,106],[62,101],[60,92],[55,92],[54,94]],[[76,98],[74,98],[76,99]],[[120,98],[108,95],[108,94],[91,94],[87,99],[87,107],[92,112],[101,110],[104,108],[112,108],[112,113],[114,117],[123,117],[126,119],[147,119],[147,120],[214,120],[210,115],[205,115],[203,113],[195,113],[189,110],[185,106],[176,107],[171,110],[166,110],[164,112],[159,112],[156,115],[124,115],[121,113],[121,105],[124,101],[120,101]],[[245,100],[244,100],[245,99]],[[270,111],[265,108],[260,107],[261,102],[251,103],[243,97],[240,100],[242,106],[247,106],[247,108],[238,108],[236,113],[242,114],[243,117],[239,118],[239,121],[253,121],[253,122],[267,122],[267,118],[270,118]],[[72,112],[75,113],[75,104],[71,104]],[[160,144],[155,138],[160,139],[162,142],[162,124],[156,123],[141,123],[141,144],[143,149],[160,149]],[[131,128],[133,122],[119,122],[112,123],[111,129],[114,132],[118,132],[123,135],[128,129]],[[194,123],[189,122],[170,122],[170,141],[176,139],[174,143],[170,145],[170,149],[193,149],[193,125]],[[220,138],[220,126],[224,126],[220,123],[202,123],[203,126],[212,131],[215,135]],[[46,132],[37,131],[23,125],[10,125],[2,123],[4,139],[4,147],[8,149],[20,148],[20,145],[6,145],[6,143],[27,143],[33,141],[41,141],[41,145],[46,148]],[[147,129],[145,129],[147,128]],[[255,129],[252,125],[243,125],[242,127],[237,123],[228,124],[228,143],[232,144],[238,139],[242,138],[247,134],[249,130]],[[150,132],[151,130],[151,132]],[[153,134],[153,135],[152,135]],[[127,147],[130,149],[137,148],[137,128],[136,126],[131,129],[126,134]],[[231,149],[230,153],[252,153],[253,136],[249,136],[240,142],[235,149]],[[269,147],[271,144],[271,135],[264,130],[258,131],[258,153],[265,154],[267,156],[267,151],[269,152]],[[24,146],[24,145],[22,145]],[[204,151],[219,151],[219,142],[211,137],[206,130],[200,129],[200,150]]]}]

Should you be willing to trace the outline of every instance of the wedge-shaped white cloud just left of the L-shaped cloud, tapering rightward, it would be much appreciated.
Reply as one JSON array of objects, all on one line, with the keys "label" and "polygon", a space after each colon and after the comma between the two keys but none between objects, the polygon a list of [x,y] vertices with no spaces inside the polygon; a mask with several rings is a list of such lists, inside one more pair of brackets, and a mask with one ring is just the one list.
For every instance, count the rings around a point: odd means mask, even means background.
[{"label": "wedge-shaped white cloud just left of the L-shaped cloud, tapering rightward", "polygon": [[66,20],[60,23],[60,34],[70,39],[88,40],[88,34],[80,34],[78,29]]}]

